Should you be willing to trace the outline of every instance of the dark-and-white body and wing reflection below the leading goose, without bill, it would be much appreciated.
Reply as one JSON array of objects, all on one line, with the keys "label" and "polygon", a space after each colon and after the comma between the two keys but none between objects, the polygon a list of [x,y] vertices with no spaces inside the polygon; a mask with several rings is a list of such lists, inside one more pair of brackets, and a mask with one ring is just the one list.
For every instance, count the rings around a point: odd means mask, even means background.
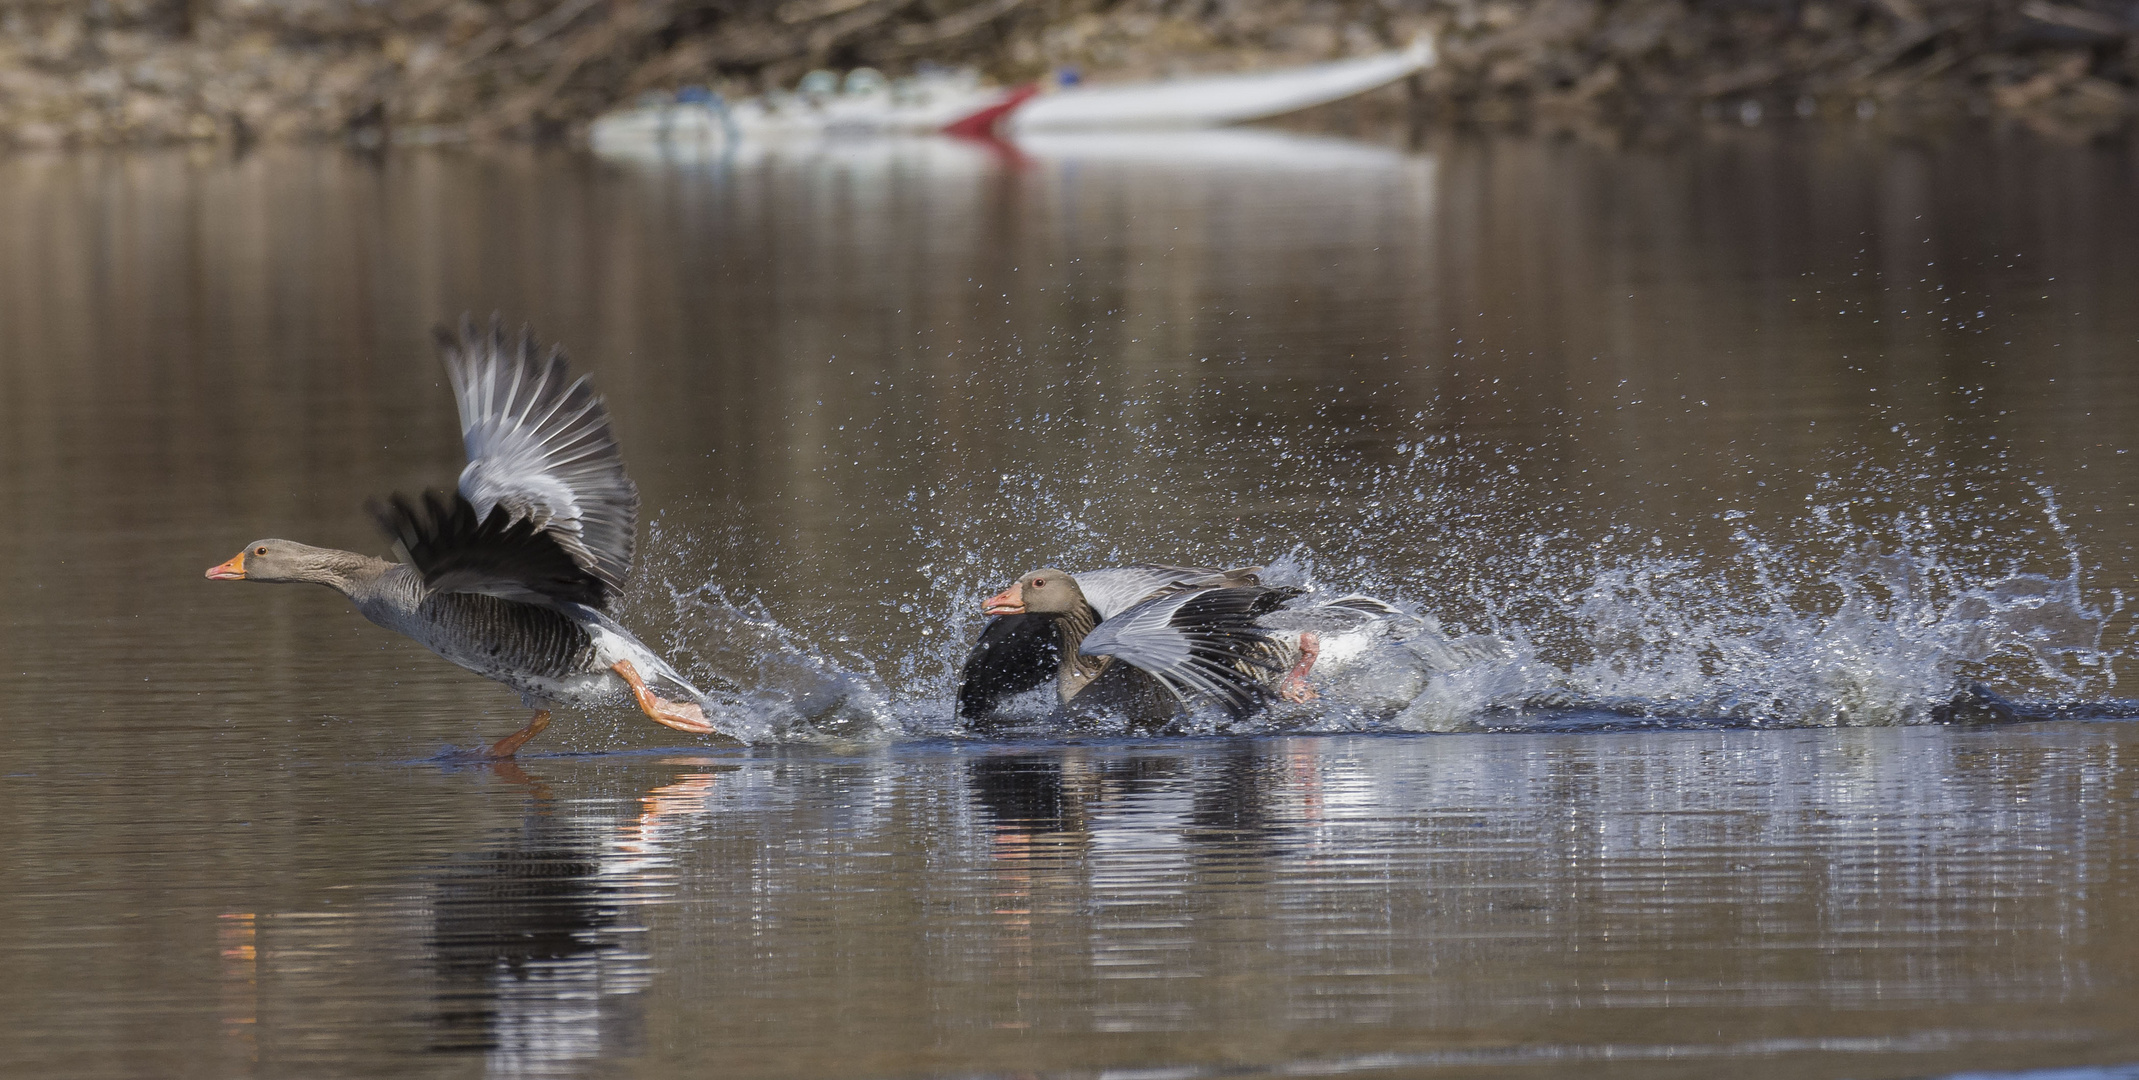
[{"label": "dark-and-white body and wing reflection below the leading goose, without bill", "polygon": [[616,821],[588,813],[607,800],[558,802],[511,763],[496,772],[528,785],[528,808],[518,830],[447,860],[430,883],[430,1046],[481,1052],[515,1076],[631,1056],[652,977],[635,915],[674,894],[665,851],[706,813],[719,774],[682,772]]}]

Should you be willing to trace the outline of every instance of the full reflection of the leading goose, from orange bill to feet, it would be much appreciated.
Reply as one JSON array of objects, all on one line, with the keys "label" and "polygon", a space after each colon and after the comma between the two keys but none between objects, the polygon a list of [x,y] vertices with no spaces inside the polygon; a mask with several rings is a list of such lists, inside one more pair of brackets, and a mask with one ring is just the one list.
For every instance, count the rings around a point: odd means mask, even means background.
[{"label": "full reflection of the leading goose, from orange bill to feet", "polygon": [[736,766],[545,768],[571,770],[569,785],[490,768],[524,791],[507,811],[518,817],[490,832],[477,823],[494,815],[494,789],[447,776],[434,791],[443,828],[477,838],[460,853],[413,873],[385,866],[368,883],[349,866],[327,892],[299,885],[302,905],[220,911],[220,1054],[306,1076],[387,1046],[479,1059],[490,1076],[584,1076],[635,1056],[652,913],[674,905],[678,855],[702,849],[706,821],[727,806],[717,796],[734,802],[723,778]]}]

